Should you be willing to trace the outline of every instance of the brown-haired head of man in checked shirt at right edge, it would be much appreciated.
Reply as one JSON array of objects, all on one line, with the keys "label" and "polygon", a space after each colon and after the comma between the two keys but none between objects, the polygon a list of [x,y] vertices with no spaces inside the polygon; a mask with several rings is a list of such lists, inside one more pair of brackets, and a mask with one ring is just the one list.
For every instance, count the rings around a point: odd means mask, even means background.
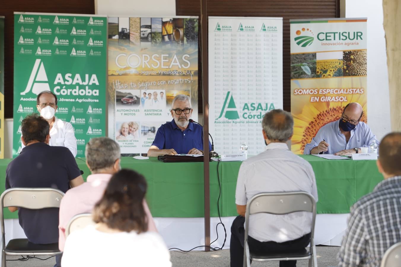
[{"label": "brown-haired head of man in checked shirt at right edge", "polygon": [[387,134],[379,145],[379,162],[390,176],[401,175],[401,132]]}]

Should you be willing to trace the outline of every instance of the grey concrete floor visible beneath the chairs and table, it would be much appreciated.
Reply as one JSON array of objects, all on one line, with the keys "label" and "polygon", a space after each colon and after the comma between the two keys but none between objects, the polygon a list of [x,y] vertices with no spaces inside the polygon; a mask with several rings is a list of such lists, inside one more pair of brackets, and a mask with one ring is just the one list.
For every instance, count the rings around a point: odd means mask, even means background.
[{"label": "grey concrete floor visible beneath the chairs and table", "polygon": [[[316,254],[318,266],[334,267],[337,266],[337,253],[340,247],[317,246]],[[42,259],[47,256],[41,256]],[[18,259],[18,256],[7,256],[7,259]],[[173,267],[229,267],[230,266],[230,250],[223,249],[221,251],[203,252],[194,251],[182,253],[171,251],[171,262]],[[29,259],[28,261],[7,261],[8,267],[53,267],[55,258],[41,261],[39,259]],[[278,262],[254,262],[253,267],[278,267]],[[129,266],[129,265],[127,265]],[[298,267],[308,266],[308,261],[298,261]]]}]

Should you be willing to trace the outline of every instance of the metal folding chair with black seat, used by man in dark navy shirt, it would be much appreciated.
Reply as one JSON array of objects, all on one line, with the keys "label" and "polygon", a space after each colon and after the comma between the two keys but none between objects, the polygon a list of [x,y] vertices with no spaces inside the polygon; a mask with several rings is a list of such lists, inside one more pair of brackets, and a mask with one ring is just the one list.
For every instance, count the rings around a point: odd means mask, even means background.
[{"label": "metal folding chair with black seat, used by man in dark navy shirt", "polygon": [[0,221],[2,240],[0,242],[1,267],[6,266],[6,255],[57,255],[59,244],[34,244],[28,239],[11,239],[7,245],[4,235],[3,208],[20,207],[30,209],[59,208],[64,193],[53,188],[10,188],[0,196]]}]

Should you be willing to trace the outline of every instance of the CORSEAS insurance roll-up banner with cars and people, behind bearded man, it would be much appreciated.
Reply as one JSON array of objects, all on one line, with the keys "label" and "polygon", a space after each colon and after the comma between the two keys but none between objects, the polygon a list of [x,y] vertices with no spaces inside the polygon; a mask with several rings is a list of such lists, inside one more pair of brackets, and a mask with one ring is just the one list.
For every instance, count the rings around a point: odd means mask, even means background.
[{"label": "CORSEAS insurance roll-up banner with cars and people, behind bearded man", "polygon": [[122,154],[147,153],[176,95],[198,117],[198,18],[115,17],[108,27],[109,137]]}]

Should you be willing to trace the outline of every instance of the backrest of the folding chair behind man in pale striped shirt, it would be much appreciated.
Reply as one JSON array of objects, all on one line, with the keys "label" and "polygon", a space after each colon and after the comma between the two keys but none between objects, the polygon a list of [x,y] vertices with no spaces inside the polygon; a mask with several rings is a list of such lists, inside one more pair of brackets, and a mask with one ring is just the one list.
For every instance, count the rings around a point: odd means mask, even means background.
[{"label": "backrest of the folding chair behind man in pale striped shirt", "polygon": [[249,215],[255,213],[288,214],[297,211],[312,213],[311,240],[314,236],[316,201],[304,191],[261,193],[253,196],[245,211],[245,240],[249,231]]}]

